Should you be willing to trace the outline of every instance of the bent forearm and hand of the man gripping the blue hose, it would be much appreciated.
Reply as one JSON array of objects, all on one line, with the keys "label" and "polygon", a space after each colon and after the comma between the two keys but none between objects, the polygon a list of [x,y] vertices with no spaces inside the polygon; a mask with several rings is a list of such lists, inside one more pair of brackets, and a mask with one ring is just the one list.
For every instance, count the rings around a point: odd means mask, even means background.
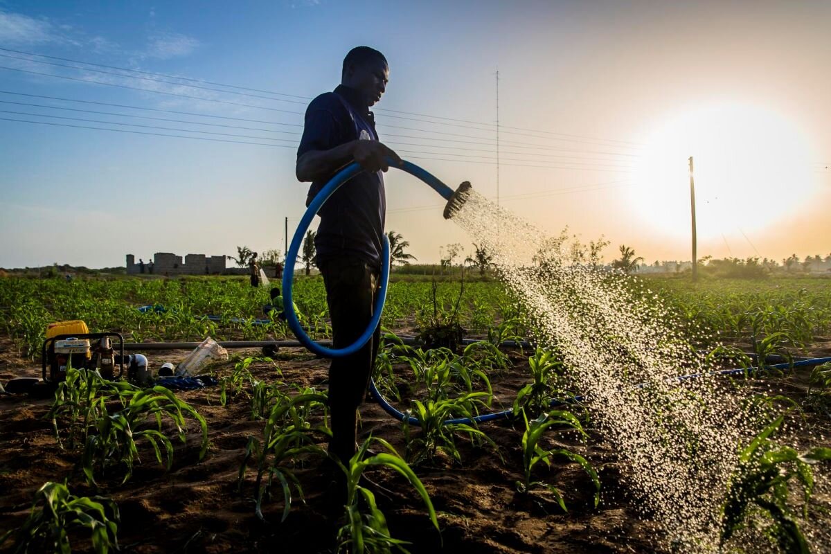
[{"label": "bent forearm and hand of the man gripping the blue hose", "polygon": [[295,174],[301,182],[327,179],[353,160],[367,171],[386,171],[390,167],[387,158],[397,165],[403,163],[398,154],[377,140],[352,140],[330,150],[307,151],[297,158]]}]

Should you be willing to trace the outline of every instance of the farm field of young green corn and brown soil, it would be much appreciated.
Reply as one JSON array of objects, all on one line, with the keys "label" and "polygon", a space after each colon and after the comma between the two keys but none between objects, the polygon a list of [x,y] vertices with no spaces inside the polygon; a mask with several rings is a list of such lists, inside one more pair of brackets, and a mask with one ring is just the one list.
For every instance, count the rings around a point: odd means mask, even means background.
[{"label": "farm field of young green corn and brown soil", "polygon": [[[765,356],[779,361],[831,356],[829,279],[714,279],[692,284],[655,278],[645,284],[648,294],[635,286],[633,294],[667,306],[684,327],[690,348],[709,356],[718,367],[752,365]],[[295,297],[303,324],[317,338],[327,338],[320,278],[299,278]],[[266,303],[267,290],[254,290],[239,279],[0,279],[0,383],[39,375],[40,347],[51,321],[82,319],[91,331],[118,331],[131,342],[200,341],[205,336],[293,338],[283,322],[263,321]],[[141,312],[136,309],[140,306],[159,307]],[[428,435],[415,428],[402,429],[381,407],[367,402],[361,409],[361,439],[385,439],[411,463],[430,495],[441,529],[436,531],[429,510],[406,478],[387,468],[370,469],[368,487],[386,516],[391,537],[412,542],[407,547],[411,552],[666,550],[666,530],[652,522],[649,508],[641,506],[626,486],[627,453],[617,452],[593,428],[591,405],[558,408],[568,409],[574,419],[563,413],[549,416],[561,424],[541,434],[538,446],[553,453],[526,473],[526,425],[532,427],[548,411],[541,406],[551,398],[581,391],[569,389],[569,368],[558,362],[556,352],[495,346],[499,341],[532,338],[527,314],[517,306],[496,280],[440,282],[435,288],[430,282],[391,283],[382,320],[391,333],[412,336],[457,322],[465,336],[481,340],[453,350],[427,350],[403,346],[394,335],[388,336],[377,364],[377,380],[393,404],[402,410],[418,409],[417,400],[439,413],[437,405],[449,400],[447,414],[454,416],[502,409],[520,414],[519,408],[524,408],[528,421],[518,415],[478,428]],[[216,317],[207,319],[207,315]],[[155,372],[165,361],[183,359],[187,351],[146,354]],[[267,429],[294,425],[293,430],[300,429],[303,435],[295,437],[295,448],[324,444],[325,432],[319,429],[326,424],[326,414],[315,395],[326,390],[327,367],[328,360],[299,348],[283,348],[271,359],[258,350],[231,351],[229,360],[209,367],[219,385],[175,392],[175,398],[204,419],[204,434],[200,419],[184,409],[181,425],[186,433],[180,441],[179,421],[165,416],[160,434],[170,438],[170,468],[157,463],[153,441],[136,439],[140,463],[135,460],[126,480],[129,464],[113,458],[120,452],[118,447],[109,451],[109,458],[90,462],[82,444],[71,445],[73,433],[96,436],[101,430],[86,428],[72,409],[58,406],[52,414],[59,443],[52,417],[47,417],[52,398],[0,396],[0,488],[7,491],[0,499],[0,537],[23,524],[38,488],[66,479],[76,496],[101,495],[117,504],[118,542],[125,552],[331,551],[337,542],[326,520],[330,506],[328,483],[319,471],[322,456],[306,448],[289,454],[272,450],[270,456],[258,458],[250,440],[263,443]],[[524,388],[529,384],[537,386]],[[800,449],[828,446],[831,370],[779,370],[736,378],[735,385],[773,399],[772,417],[787,412],[788,424],[802,433]],[[106,400],[102,405],[106,404],[108,414],[122,413],[123,403],[131,398],[106,385],[95,385],[98,388],[93,390],[91,381],[84,386]],[[515,406],[520,390],[523,399]],[[299,420],[289,424],[274,415],[275,406],[288,405],[298,395],[308,395],[292,412]],[[76,401],[84,404],[81,398]],[[146,417],[138,412],[134,430],[157,429]],[[168,450],[163,441],[160,448],[164,459]],[[373,443],[371,449],[382,452],[386,447]],[[272,465],[286,472],[281,475],[297,478],[305,503],[299,490],[288,485],[292,500],[284,512],[287,503],[279,478],[274,477],[270,498],[262,498],[260,519],[257,483],[268,482]],[[246,471],[240,479],[241,467]],[[258,468],[265,469],[261,479]],[[809,543],[826,546],[831,490],[828,480],[820,477],[828,471],[828,463],[815,467],[817,484],[806,507],[814,521],[808,528],[826,529],[825,535],[809,537]],[[797,500],[794,506],[801,515],[802,503]],[[281,522],[284,514],[288,515]],[[70,537],[73,548],[89,548],[86,530],[71,532]],[[744,536],[739,530],[735,537]],[[11,544],[10,539],[0,548]],[[725,545],[728,550],[735,548],[735,539]],[[776,552],[773,543],[760,548],[759,552]]]}]

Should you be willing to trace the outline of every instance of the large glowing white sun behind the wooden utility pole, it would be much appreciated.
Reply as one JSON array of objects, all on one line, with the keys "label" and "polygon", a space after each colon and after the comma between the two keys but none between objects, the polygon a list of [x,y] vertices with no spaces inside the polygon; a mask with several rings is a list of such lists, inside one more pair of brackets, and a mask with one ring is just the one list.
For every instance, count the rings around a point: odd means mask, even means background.
[{"label": "large glowing white sun behind the wooden utility pole", "polygon": [[809,142],[796,125],[757,105],[709,105],[666,120],[637,158],[631,200],[653,230],[690,236],[690,156],[699,238],[768,228],[816,192]]}]

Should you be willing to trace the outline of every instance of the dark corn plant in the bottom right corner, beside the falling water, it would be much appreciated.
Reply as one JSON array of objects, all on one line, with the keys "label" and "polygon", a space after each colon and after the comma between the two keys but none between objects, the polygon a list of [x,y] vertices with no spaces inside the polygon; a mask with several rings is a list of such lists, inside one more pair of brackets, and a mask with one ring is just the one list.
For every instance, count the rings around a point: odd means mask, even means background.
[{"label": "dark corn plant in the bottom right corner, beside the falling water", "polygon": [[789,506],[790,485],[795,480],[801,489],[803,517],[808,517],[814,493],[811,466],[831,460],[831,449],[818,447],[800,454],[789,446],[776,444],[771,436],[784,421],[779,415],[760,431],[739,453],[739,467],[728,484],[721,507],[721,543],[748,525],[751,513],[763,513],[770,520],[768,536],[783,552],[809,553],[809,545],[799,517]]}]

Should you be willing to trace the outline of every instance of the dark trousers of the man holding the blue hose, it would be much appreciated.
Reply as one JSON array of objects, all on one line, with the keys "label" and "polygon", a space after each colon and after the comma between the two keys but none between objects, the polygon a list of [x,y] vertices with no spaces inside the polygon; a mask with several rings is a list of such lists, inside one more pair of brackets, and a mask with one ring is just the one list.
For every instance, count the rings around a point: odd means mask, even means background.
[{"label": "dark trousers of the man holding the blue hose", "polygon": [[[335,348],[351,345],[366,331],[378,292],[380,271],[355,257],[342,257],[318,265],[326,286],[332,342]],[[329,452],[347,463],[355,453],[357,409],[375,365],[381,326],[355,354],[332,359],[329,366],[329,409],[332,441]]]}]

